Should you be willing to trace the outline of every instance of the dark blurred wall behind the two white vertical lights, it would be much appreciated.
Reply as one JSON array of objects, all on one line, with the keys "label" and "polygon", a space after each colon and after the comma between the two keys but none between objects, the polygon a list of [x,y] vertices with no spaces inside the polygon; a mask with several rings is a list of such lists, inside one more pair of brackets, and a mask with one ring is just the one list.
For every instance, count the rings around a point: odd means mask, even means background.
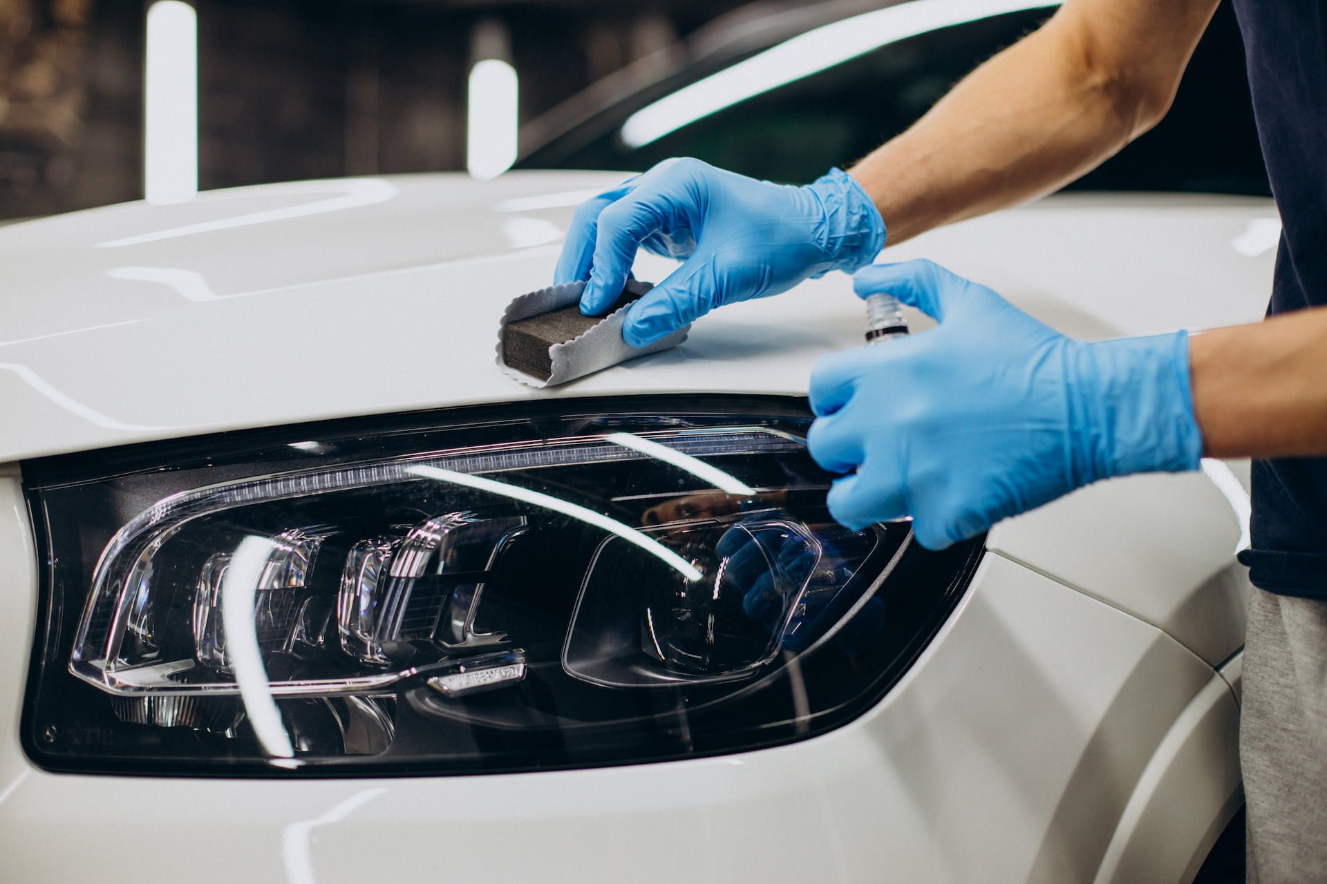
[{"label": "dark blurred wall behind the two white vertical lights", "polygon": [[[0,0],[0,219],[142,195],[145,0]],[[739,0],[194,0],[199,186],[464,167],[470,37],[528,118]]]}]

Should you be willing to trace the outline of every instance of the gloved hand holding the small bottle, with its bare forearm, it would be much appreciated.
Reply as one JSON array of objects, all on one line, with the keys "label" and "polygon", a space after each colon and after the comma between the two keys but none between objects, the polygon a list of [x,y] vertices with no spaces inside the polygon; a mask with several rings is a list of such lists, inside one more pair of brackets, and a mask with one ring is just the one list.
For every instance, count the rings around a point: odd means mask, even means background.
[{"label": "gloved hand holding the small bottle, with its bare forearm", "polygon": [[825,357],[811,456],[845,473],[829,513],[913,517],[940,549],[1095,481],[1197,469],[1202,455],[1327,455],[1327,307],[1266,322],[1074,341],[930,261],[876,264],[937,327]]}]

